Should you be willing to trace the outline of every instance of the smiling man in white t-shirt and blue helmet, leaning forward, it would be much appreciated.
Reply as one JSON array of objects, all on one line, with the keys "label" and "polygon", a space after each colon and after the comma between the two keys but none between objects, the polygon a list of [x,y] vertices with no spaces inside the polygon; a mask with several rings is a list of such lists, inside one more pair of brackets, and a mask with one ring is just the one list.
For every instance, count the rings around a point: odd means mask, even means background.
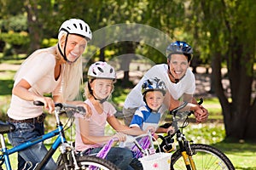
[{"label": "smiling man in white t-shirt and blue helmet, leaning forward", "polygon": [[158,77],[166,83],[166,98],[160,113],[166,110],[172,111],[183,102],[188,102],[187,110],[195,111],[196,122],[205,122],[208,117],[208,111],[201,105],[198,105],[193,94],[195,93],[195,76],[189,70],[190,60],[192,59],[193,49],[186,42],[172,42],[166,48],[167,64],[154,65],[149,69],[137,86],[133,88],[125,99],[123,109],[126,125],[130,125],[131,118],[137,108],[145,105],[143,101],[142,84],[149,78]]}]

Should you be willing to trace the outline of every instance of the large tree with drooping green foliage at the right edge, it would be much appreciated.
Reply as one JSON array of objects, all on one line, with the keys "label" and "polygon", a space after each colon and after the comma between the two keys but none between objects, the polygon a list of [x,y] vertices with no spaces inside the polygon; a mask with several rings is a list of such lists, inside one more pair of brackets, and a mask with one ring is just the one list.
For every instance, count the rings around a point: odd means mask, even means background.
[{"label": "large tree with drooping green foliage at the right edge", "polygon": [[[201,38],[207,41],[205,48],[212,56],[214,88],[223,110],[226,139],[256,141],[255,2],[197,0],[192,5],[194,16],[201,20]],[[230,99],[222,85],[223,64],[228,69]]]}]

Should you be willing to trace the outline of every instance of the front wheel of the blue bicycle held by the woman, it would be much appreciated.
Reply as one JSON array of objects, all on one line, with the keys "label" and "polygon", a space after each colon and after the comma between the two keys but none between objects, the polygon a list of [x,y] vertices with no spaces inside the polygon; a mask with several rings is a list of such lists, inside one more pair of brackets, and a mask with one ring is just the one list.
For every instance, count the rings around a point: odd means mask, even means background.
[{"label": "front wheel of the blue bicycle held by the woman", "polygon": [[[79,156],[76,158],[76,161],[79,165],[79,169],[90,169],[90,170],[119,170],[112,162],[104,160],[96,156]],[[64,163],[58,166],[57,170],[65,169]],[[71,166],[68,169],[75,169],[74,166]]]}]

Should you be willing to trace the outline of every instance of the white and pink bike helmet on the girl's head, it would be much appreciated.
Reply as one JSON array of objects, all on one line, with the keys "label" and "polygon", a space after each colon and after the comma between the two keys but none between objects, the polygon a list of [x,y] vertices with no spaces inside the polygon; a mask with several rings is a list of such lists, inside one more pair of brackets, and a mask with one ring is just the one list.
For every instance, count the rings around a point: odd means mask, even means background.
[{"label": "white and pink bike helmet on the girl's head", "polygon": [[90,65],[87,75],[95,78],[116,79],[113,67],[103,61],[97,61],[96,63]]}]

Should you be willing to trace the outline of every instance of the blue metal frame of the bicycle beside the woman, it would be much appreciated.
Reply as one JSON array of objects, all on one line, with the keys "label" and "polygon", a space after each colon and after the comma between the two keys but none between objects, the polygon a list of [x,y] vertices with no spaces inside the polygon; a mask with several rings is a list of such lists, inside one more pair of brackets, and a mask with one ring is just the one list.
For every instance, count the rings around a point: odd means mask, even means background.
[{"label": "blue metal frame of the bicycle beside the woman", "polygon": [[[4,138],[3,138],[3,134],[1,134],[1,144],[2,144],[1,151],[3,152],[3,155],[0,156],[0,160],[4,161],[7,170],[12,169],[11,165],[10,165],[10,161],[9,161],[9,155],[11,155],[15,152],[18,152],[20,150],[25,150],[25,149],[31,147],[34,144],[38,144],[40,142],[43,142],[46,139],[51,139],[51,138],[58,135],[58,137],[55,139],[55,142],[51,145],[47,154],[44,156],[44,159],[41,162],[39,162],[38,165],[35,168],[36,170],[42,169],[45,166],[46,162],[49,161],[49,158],[51,158],[51,156],[54,155],[55,150],[57,150],[57,148],[61,144],[67,143],[67,140],[65,138],[65,134],[64,134],[64,131],[63,131],[63,126],[62,126],[62,123],[60,121],[59,114],[60,114],[59,111],[55,111],[55,118],[56,118],[56,122],[57,122],[57,128],[55,130],[53,130],[49,133],[45,133],[44,135],[42,135],[38,138],[27,141],[26,143],[19,144],[19,145],[15,146],[11,149],[6,148],[5,141],[4,141]],[[64,150],[64,152],[65,152],[65,150]],[[63,154],[63,153],[61,153],[61,154]],[[3,162],[1,162],[0,166],[2,166],[2,165],[3,165]]]}]

